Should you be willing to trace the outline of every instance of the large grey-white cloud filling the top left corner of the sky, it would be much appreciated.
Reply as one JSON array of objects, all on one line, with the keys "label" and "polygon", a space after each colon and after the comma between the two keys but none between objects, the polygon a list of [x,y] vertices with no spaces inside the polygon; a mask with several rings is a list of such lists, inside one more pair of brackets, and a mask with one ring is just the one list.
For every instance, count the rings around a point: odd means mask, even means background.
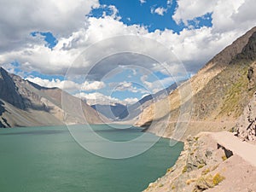
[{"label": "large grey-white cloud filling the top left corner of the sky", "polygon": [[30,32],[53,32],[57,38],[68,37],[84,27],[84,15],[97,6],[98,0],[0,1],[0,51],[35,44]]}]

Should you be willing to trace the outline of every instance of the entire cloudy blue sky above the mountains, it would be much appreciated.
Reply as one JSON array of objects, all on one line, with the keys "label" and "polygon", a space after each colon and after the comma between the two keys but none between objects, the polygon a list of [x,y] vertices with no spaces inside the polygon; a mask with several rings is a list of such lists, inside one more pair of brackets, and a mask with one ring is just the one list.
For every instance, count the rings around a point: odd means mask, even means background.
[{"label": "entire cloudy blue sky above the mountains", "polygon": [[256,24],[255,0],[0,0],[0,66],[89,104],[189,79]]}]

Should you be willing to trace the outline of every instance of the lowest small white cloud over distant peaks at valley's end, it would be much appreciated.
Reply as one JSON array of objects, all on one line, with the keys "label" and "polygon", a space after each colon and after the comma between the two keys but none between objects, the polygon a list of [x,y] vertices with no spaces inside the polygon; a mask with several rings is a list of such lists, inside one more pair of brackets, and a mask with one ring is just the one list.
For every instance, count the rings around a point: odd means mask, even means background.
[{"label": "lowest small white cloud over distant peaks at valley's end", "polygon": [[126,98],[124,101],[119,100],[118,98],[112,96],[105,96],[102,93],[89,93],[84,92],[78,93],[75,96],[84,99],[89,105],[113,105],[114,103],[120,103],[123,105],[131,104],[137,102],[137,98]]}]

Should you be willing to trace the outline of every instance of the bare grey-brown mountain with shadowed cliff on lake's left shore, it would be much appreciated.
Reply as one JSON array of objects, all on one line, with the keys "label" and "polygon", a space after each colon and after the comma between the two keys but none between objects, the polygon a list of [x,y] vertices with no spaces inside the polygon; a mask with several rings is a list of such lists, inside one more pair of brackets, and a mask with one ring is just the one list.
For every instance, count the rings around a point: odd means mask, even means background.
[{"label": "bare grey-brown mountain with shadowed cliff on lake's left shore", "polygon": [[97,124],[102,119],[106,120],[79,98],[21,79],[0,67],[0,127]]}]

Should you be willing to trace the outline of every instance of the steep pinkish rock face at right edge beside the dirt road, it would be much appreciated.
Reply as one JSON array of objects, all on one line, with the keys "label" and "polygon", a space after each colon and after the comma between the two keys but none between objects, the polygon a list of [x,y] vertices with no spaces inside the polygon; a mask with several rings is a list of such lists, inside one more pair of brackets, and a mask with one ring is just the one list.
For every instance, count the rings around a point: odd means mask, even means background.
[{"label": "steep pinkish rock face at right edge beside the dirt road", "polygon": [[236,124],[237,137],[256,143],[256,92]]}]

